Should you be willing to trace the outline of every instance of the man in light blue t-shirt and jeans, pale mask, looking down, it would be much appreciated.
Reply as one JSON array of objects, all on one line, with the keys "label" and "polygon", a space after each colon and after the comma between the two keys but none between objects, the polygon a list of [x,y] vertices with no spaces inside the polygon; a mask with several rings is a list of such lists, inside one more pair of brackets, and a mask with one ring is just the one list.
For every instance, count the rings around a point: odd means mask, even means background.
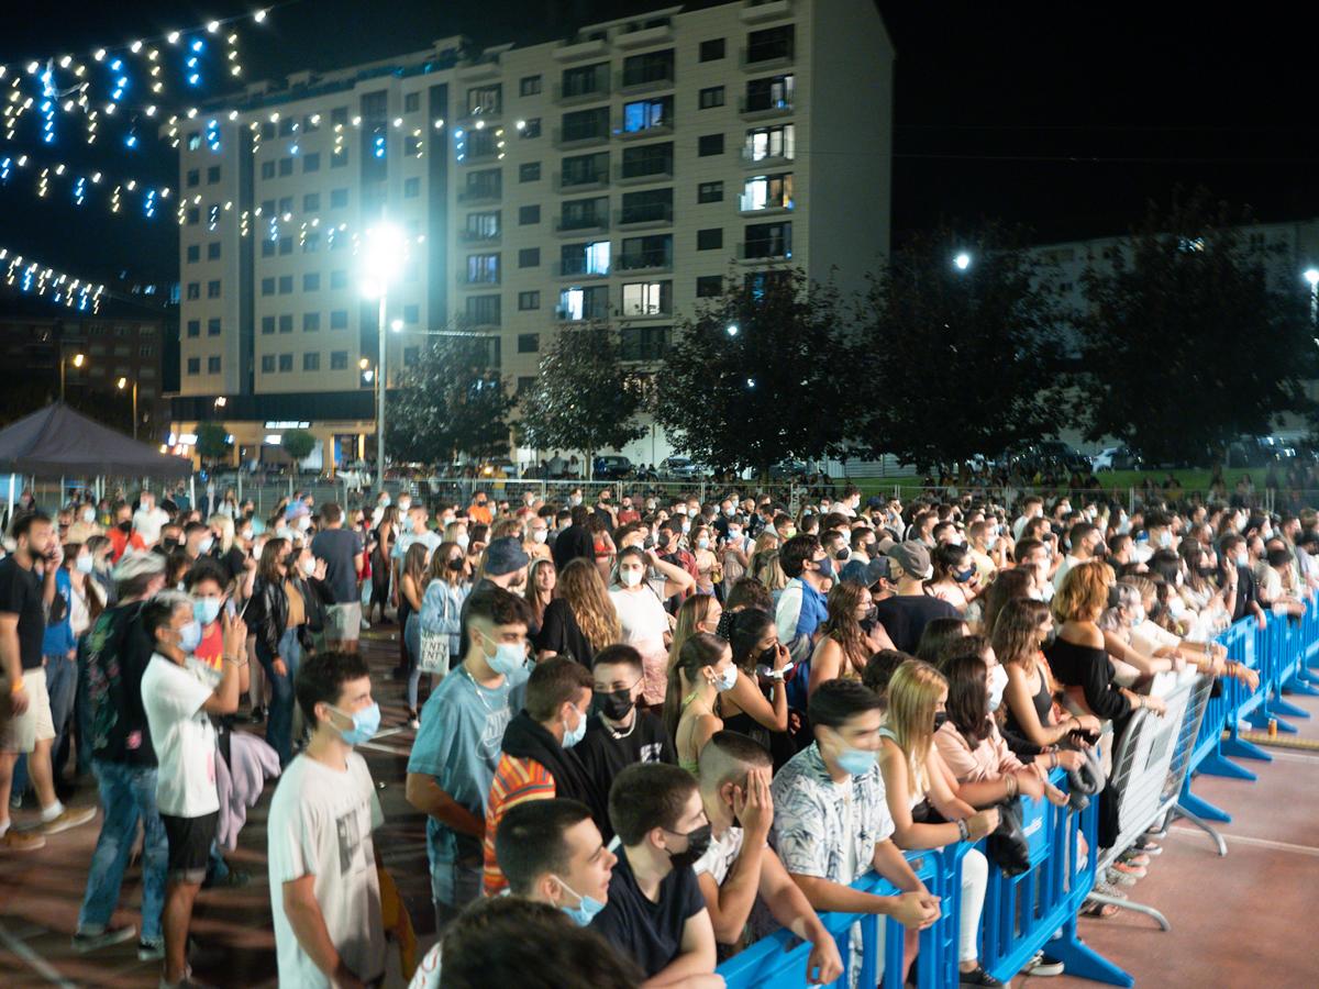
[{"label": "man in light blue t-shirt and jeans, pale mask, looking down", "polygon": [[408,802],[430,815],[426,852],[441,919],[480,891],[485,799],[528,679],[526,601],[493,587],[468,596],[464,608],[467,651],[431,691],[408,761]]}]

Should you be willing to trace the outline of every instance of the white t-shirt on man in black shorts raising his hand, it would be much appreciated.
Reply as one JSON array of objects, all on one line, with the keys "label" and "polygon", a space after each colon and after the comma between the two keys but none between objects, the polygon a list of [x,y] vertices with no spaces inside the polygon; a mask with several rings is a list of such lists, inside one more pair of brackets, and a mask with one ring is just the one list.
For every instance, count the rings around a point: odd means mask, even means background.
[{"label": "white t-shirt on man in black shorts raising his hand", "polygon": [[160,762],[156,803],[174,818],[204,818],[220,810],[215,791],[215,728],[202,709],[212,688],[160,653],[142,674],[142,707]]}]

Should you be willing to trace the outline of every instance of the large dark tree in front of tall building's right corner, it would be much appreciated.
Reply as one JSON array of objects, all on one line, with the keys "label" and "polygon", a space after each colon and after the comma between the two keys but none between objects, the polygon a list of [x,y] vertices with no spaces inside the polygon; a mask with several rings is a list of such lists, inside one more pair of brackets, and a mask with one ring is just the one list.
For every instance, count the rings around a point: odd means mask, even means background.
[{"label": "large dark tree in front of tall building's right corner", "polygon": [[764,477],[787,458],[840,455],[852,386],[838,293],[801,270],[729,278],[724,295],[674,328],[656,376],[656,419],[715,468]]}]

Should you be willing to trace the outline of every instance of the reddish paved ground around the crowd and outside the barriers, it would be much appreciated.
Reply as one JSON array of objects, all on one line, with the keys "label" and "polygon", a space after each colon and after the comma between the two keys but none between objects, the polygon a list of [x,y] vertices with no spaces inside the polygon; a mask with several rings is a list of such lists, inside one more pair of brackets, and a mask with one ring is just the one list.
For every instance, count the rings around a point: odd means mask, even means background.
[{"label": "reddish paved ground around the crowd and outside the barriers", "polygon": [[[388,632],[386,632],[388,634]],[[434,918],[421,815],[404,799],[402,779],[413,733],[402,724],[401,684],[385,679],[396,641],[367,644],[384,708],[385,736],[365,746],[381,786],[384,832],[376,852],[393,873],[412,910],[422,944],[433,939]],[[1298,702],[1315,720],[1297,721],[1301,737],[1319,740],[1319,699]],[[1083,920],[1082,936],[1144,986],[1319,985],[1319,953],[1311,932],[1319,914],[1319,752],[1274,750],[1275,761],[1257,769],[1256,783],[1202,777],[1195,793],[1233,815],[1223,827],[1228,857],[1179,822],[1132,898],[1162,910],[1173,923],[1162,932],[1148,918],[1124,911],[1109,920]],[[94,790],[78,802],[94,799]],[[252,873],[239,890],[202,893],[194,916],[197,976],[218,986],[276,985],[269,890],[265,881],[265,808],[248,820],[237,868]],[[96,840],[96,824],[51,839],[38,853],[0,860],[0,986],[154,986],[157,965],[138,963],[131,945],[79,956],[69,936]],[[136,922],[140,874],[129,872],[119,922]],[[1017,980],[1043,989],[1093,985],[1082,980]]]}]

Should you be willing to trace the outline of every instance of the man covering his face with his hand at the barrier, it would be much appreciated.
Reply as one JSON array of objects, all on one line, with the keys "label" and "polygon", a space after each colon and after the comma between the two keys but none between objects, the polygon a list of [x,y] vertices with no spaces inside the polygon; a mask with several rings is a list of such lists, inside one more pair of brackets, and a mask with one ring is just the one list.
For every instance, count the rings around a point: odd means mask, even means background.
[{"label": "man covering his face with his hand at the barrier", "polygon": [[741,939],[758,895],[780,924],[811,943],[806,981],[832,982],[843,974],[834,936],[768,845],[773,765],[764,746],[737,732],[715,732],[700,750],[700,804],[714,840],[696,861],[696,880],[716,942]]}]

